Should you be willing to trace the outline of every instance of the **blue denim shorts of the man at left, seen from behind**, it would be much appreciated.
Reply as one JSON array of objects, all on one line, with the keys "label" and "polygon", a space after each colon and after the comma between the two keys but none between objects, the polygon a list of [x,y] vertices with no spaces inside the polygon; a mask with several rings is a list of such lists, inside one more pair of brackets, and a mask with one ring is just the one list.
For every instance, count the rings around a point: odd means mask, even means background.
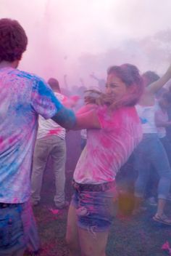
[{"label": "blue denim shorts of the man at left, seen from behind", "polygon": [[0,209],[0,255],[23,255],[32,225],[29,202]]}]

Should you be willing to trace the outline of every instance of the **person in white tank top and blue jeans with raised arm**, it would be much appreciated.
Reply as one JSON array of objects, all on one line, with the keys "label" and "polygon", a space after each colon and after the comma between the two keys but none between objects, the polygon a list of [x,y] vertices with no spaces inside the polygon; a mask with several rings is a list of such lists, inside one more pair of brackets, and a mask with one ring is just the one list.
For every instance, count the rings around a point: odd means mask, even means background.
[{"label": "person in white tank top and blue jeans with raised arm", "polygon": [[164,206],[170,190],[171,169],[167,153],[157,135],[155,94],[170,78],[171,66],[160,79],[156,73],[151,71],[143,74],[145,89],[141,100],[136,105],[143,127],[143,140],[135,150],[135,168],[138,170],[138,179],[135,182],[135,209],[133,211],[133,214],[141,211],[141,202],[152,164],[159,174],[157,213],[153,219],[166,225],[171,225],[171,220],[164,215]]}]

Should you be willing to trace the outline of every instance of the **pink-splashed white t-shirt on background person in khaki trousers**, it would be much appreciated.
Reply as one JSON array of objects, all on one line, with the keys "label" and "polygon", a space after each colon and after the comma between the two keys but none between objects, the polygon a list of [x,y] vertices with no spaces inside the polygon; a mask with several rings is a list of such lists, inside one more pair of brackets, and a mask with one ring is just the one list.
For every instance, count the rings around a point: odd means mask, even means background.
[{"label": "pink-splashed white t-shirt on background person in khaki trousers", "polygon": [[[59,92],[54,92],[54,95],[60,102],[66,100],[65,96]],[[42,137],[57,135],[61,137],[63,140],[65,139],[66,130],[57,124],[55,121],[51,119],[44,119],[43,116],[38,117],[38,135],[37,139],[41,139]]]}]

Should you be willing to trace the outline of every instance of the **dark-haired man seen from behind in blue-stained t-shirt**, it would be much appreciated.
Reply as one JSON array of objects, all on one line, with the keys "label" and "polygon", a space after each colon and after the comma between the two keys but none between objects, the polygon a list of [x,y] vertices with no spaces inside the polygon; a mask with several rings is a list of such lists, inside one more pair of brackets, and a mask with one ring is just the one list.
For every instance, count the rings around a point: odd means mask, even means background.
[{"label": "dark-haired man seen from behind in blue-stained t-shirt", "polygon": [[0,20],[0,255],[23,255],[33,219],[30,170],[38,114],[64,128],[75,115],[43,79],[17,66],[28,38],[16,20]]}]

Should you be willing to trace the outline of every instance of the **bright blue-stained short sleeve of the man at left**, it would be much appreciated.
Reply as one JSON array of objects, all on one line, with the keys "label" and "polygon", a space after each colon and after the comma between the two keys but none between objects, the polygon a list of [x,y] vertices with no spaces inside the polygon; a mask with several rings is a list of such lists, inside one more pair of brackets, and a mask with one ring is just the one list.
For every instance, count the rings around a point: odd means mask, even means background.
[{"label": "bright blue-stained short sleeve of the man at left", "polygon": [[63,108],[49,85],[38,78],[33,81],[31,105],[33,110],[45,119],[50,119]]}]

